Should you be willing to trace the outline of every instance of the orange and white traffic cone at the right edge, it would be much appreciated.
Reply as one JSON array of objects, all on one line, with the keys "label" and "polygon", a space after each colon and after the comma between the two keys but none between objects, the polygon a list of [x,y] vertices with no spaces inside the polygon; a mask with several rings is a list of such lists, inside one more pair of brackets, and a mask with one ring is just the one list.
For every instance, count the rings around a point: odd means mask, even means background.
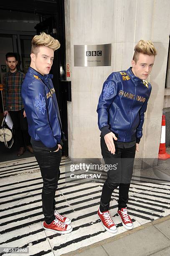
[{"label": "orange and white traffic cone at the right edge", "polygon": [[160,138],[160,148],[159,148],[159,154],[158,159],[160,160],[166,160],[170,158],[170,154],[167,154],[166,152],[166,145],[165,145],[165,113],[162,114],[162,131],[161,131],[161,138]]}]

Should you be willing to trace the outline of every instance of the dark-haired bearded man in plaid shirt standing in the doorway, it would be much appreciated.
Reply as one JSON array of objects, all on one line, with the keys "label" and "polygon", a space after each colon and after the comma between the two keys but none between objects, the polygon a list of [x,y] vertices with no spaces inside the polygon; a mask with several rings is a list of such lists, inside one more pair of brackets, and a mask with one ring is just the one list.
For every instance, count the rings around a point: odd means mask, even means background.
[{"label": "dark-haired bearded man in plaid shirt standing in the doorway", "polygon": [[4,115],[10,114],[15,128],[15,142],[18,146],[17,155],[23,155],[25,147],[33,153],[28,134],[28,123],[21,98],[21,85],[25,74],[17,70],[15,53],[6,54],[6,64],[9,72],[3,76],[3,106]]}]

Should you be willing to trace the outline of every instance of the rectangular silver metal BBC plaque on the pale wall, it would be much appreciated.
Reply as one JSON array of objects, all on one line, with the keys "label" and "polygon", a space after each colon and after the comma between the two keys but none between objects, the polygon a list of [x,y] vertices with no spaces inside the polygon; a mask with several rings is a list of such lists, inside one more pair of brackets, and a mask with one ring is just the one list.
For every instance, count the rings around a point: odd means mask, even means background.
[{"label": "rectangular silver metal BBC plaque on the pale wall", "polygon": [[74,66],[111,66],[111,51],[112,44],[74,45]]}]

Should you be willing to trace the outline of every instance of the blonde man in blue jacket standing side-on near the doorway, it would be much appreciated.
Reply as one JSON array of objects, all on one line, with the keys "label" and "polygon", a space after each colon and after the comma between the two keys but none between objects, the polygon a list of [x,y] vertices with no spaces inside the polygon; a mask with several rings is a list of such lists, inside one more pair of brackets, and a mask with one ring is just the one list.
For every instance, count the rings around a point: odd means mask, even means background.
[{"label": "blonde man in blue jacket standing side-on near the doorway", "polygon": [[43,178],[43,227],[56,233],[70,233],[71,220],[55,210],[55,193],[60,177],[62,126],[55,89],[49,74],[58,40],[46,33],[32,40],[31,63],[22,84],[22,97],[31,144]]}]

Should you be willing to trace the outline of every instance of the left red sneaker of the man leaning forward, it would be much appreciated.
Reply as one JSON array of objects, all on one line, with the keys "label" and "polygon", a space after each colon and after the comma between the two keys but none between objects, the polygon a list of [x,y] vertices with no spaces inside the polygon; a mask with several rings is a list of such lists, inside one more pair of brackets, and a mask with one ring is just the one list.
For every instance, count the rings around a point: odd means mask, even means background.
[{"label": "left red sneaker of the man leaning forward", "polygon": [[99,218],[101,219],[101,223],[103,224],[104,228],[111,233],[116,233],[117,227],[115,226],[109,214],[109,211],[101,212],[99,209],[97,213],[99,215]]}]

